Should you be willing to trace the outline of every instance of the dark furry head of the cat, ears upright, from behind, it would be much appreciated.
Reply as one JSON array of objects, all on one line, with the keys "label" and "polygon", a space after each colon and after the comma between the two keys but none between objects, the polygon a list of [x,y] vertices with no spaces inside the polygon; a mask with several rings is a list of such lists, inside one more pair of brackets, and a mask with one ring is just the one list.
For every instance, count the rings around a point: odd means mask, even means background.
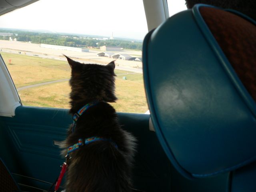
[{"label": "dark furry head of the cat, ears upright, from behind", "polygon": [[[65,56],[65,55],[64,55]],[[83,64],[65,56],[71,67],[70,104],[91,102],[94,100],[115,102],[115,63],[106,66]]]}]

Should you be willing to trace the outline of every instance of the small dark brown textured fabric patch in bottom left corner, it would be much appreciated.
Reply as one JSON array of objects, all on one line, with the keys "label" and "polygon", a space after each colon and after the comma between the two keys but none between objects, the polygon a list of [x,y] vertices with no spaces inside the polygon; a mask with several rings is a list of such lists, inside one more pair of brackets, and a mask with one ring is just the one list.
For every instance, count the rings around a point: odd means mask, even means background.
[{"label": "small dark brown textured fabric patch in bottom left corner", "polygon": [[18,187],[6,169],[6,166],[0,160],[0,191],[1,192],[14,192]]}]

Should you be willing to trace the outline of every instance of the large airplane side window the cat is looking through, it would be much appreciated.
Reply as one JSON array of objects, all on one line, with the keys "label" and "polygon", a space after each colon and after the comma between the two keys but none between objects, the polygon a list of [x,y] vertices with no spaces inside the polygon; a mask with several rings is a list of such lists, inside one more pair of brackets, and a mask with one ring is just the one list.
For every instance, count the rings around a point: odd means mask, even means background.
[{"label": "large airplane side window the cat is looking through", "polygon": [[142,77],[142,0],[40,0],[0,17],[0,54],[23,105],[69,108],[70,66],[116,59],[118,112],[148,110]]}]

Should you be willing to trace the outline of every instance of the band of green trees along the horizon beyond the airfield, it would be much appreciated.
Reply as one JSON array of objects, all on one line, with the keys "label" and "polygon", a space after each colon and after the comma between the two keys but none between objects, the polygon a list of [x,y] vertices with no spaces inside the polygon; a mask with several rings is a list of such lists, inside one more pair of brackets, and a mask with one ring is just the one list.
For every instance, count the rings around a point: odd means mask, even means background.
[{"label": "band of green trees along the horizon beyond the airfield", "polygon": [[[124,49],[142,50],[142,42],[128,41],[120,39],[112,40],[96,40],[92,37],[84,38],[76,35],[67,34],[52,34],[52,33],[39,33],[27,31],[12,31],[0,30],[0,32],[18,33],[18,36],[12,35],[12,39],[17,38],[17,41],[32,42],[38,44],[51,44],[69,47],[93,47],[100,48],[100,46],[119,46]],[[10,36],[1,36],[2,40],[9,40]]]}]

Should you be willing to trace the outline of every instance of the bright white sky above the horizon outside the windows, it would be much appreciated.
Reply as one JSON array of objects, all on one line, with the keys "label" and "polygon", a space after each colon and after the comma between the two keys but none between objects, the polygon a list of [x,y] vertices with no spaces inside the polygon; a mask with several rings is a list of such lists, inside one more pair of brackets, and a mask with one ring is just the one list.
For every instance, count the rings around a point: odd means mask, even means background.
[{"label": "bright white sky above the horizon outside the windows", "polygon": [[[167,0],[169,14],[185,0]],[[49,30],[143,40],[148,32],[142,0],[39,0],[0,17],[1,28]]]}]

